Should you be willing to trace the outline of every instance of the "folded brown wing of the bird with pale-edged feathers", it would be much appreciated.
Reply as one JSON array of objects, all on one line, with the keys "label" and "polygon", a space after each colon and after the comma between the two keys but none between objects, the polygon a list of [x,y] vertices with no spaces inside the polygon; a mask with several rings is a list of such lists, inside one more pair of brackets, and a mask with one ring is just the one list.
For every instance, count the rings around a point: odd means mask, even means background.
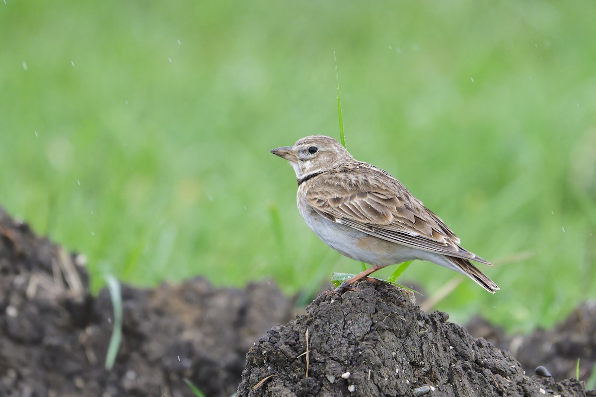
[{"label": "folded brown wing of the bird with pale-edged feathers", "polygon": [[460,239],[437,215],[372,165],[321,174],[309,181],[305,192],[315,211],[336,223],[412,248],[490,264],[461,248]]}]

